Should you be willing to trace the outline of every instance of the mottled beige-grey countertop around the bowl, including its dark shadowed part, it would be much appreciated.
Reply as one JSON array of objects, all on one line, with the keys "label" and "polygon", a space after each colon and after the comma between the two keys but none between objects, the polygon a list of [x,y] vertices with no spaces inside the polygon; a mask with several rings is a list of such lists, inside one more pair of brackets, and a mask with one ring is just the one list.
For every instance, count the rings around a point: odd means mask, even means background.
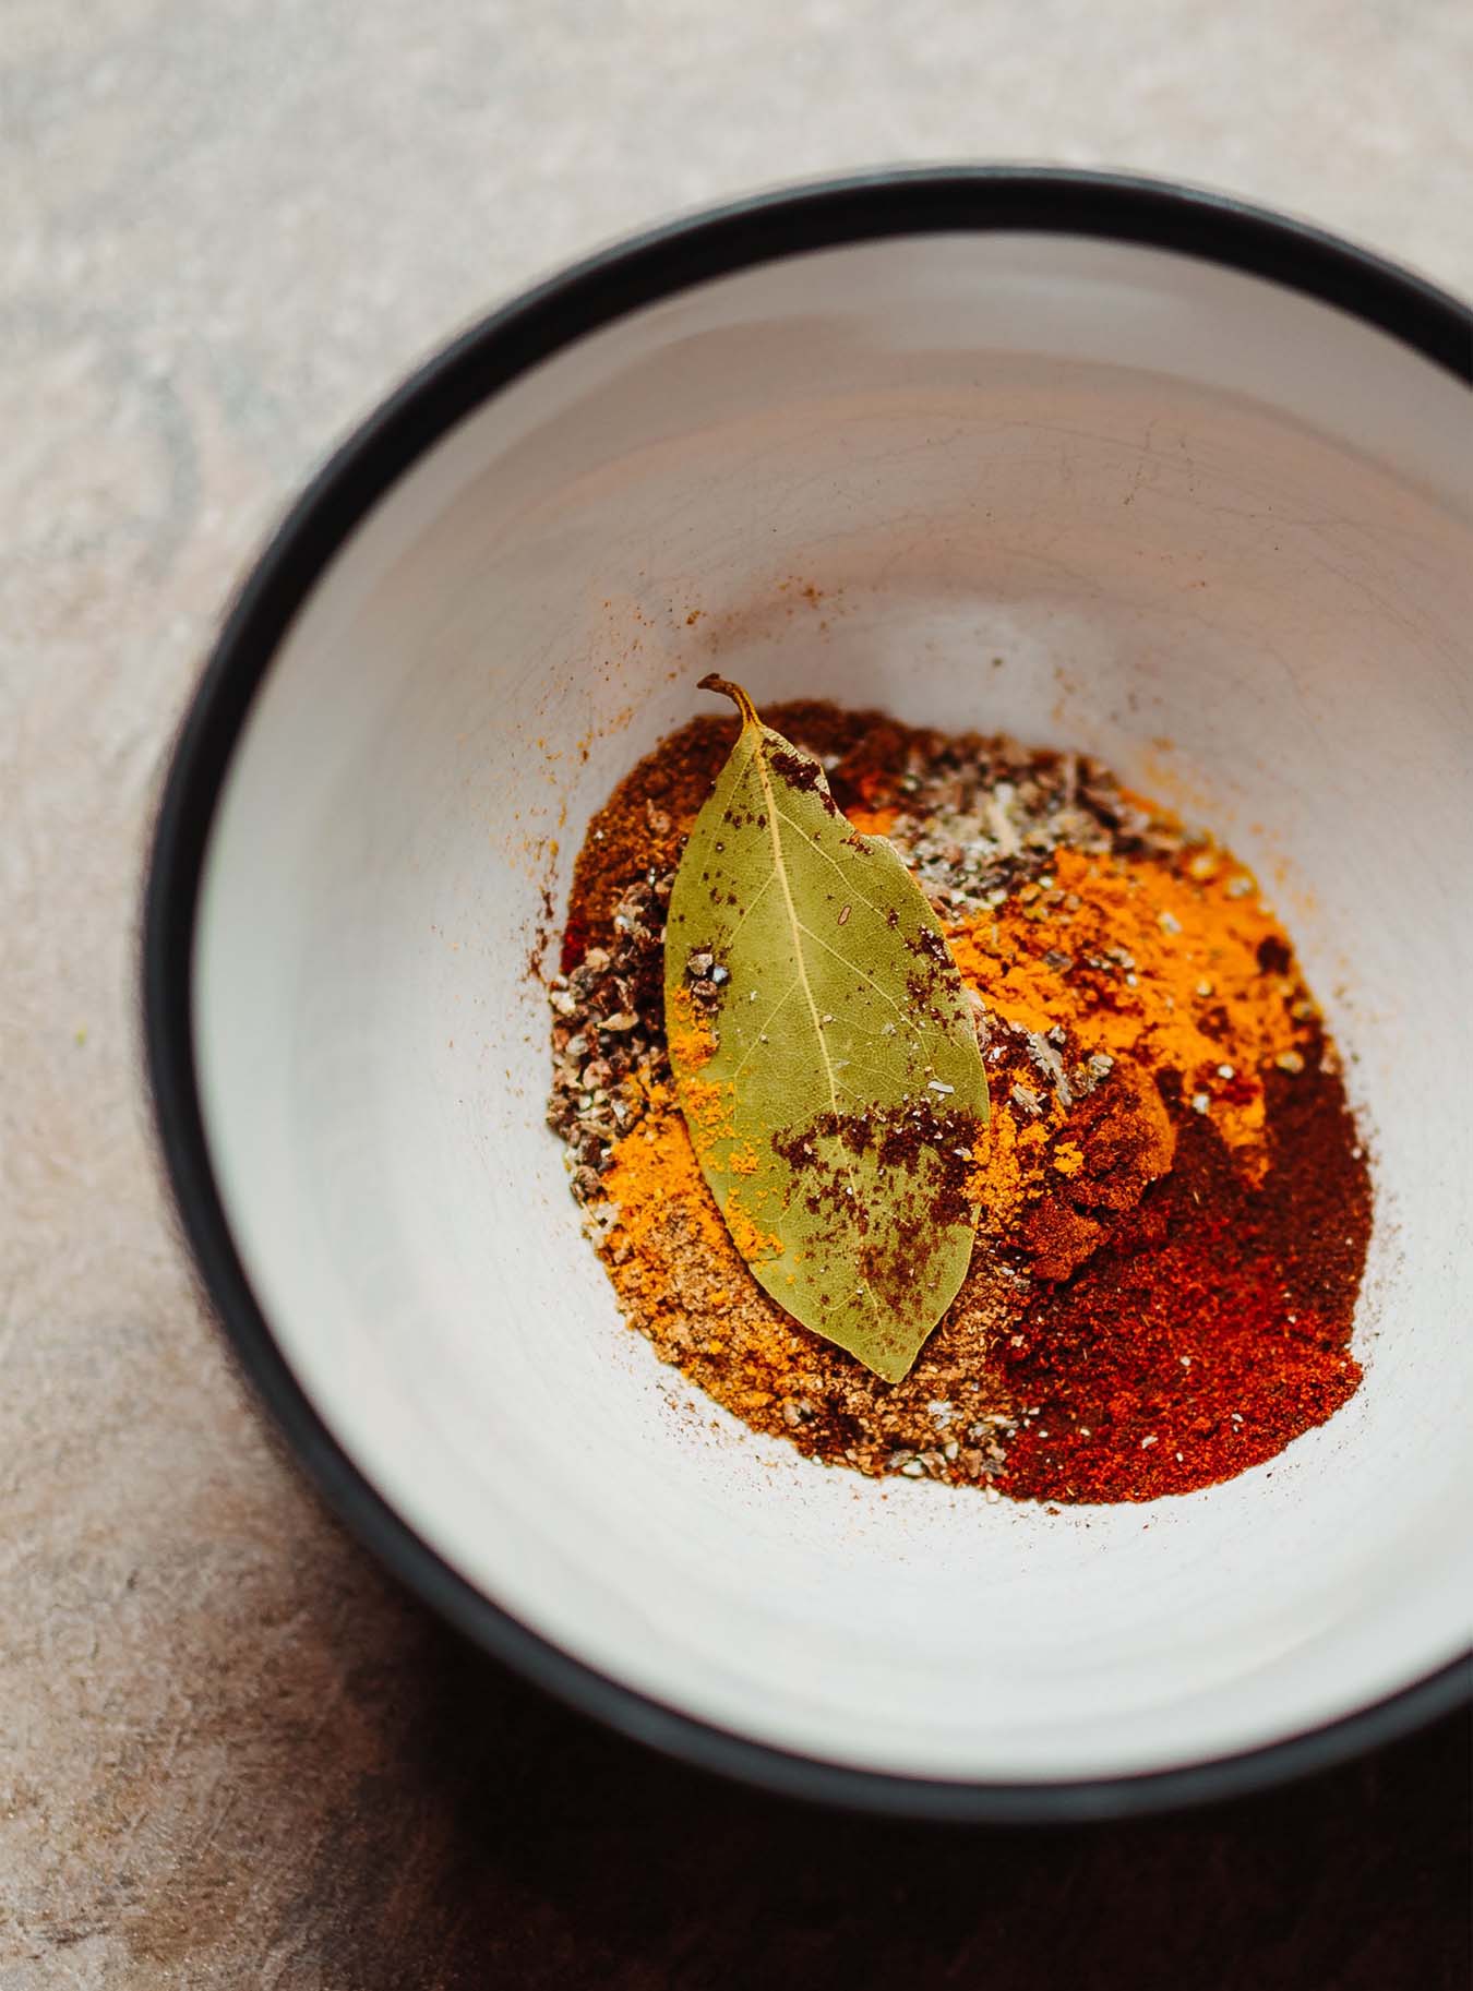
[{"label": "mottled beige-grey countertop around the bowl, including its dark shadowed part", "polygon": [[1467,1981],[1469,1726],[1182,1822],[828,1822],[464,1655],[273,1449],[157,1187],[155,782],[305,472],[531,275],[884,159],[1127,165],[1473,295],[1467,0],[6,0],[0,1985]]}]

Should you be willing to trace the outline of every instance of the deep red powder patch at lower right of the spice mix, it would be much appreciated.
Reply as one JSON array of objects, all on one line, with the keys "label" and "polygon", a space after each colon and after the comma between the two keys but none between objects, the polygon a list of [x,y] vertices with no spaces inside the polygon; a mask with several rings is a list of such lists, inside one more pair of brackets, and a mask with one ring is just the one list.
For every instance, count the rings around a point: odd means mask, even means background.
[{"label": "deep red powder patch at lower right of the spice mix", "polygon": [[1184,1115],[1170,1175],[1001,1350],[1025,1422],[1019,1499],[1155,1499],[1230,1479],[1360,1382],[1350,1318],[1369,1238],[1364,1151],[1334,1063],[1268,1079],[1268,1175],[1246,1187]]}]

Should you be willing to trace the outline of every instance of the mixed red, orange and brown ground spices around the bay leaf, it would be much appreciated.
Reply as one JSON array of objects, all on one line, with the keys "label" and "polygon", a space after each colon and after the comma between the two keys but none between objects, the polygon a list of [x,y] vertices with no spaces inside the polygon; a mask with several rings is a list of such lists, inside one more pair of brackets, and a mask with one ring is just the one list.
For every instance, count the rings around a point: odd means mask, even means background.
[{"label": "mixed red, orange and brown ground spices around the bay leaf", "polygon": [[[902,852],[973,994],[977,1242],[900,1384],[798,1326],[733,1244],[663,1023],[675,866],[736,731],[703,717],[593,818],[551,988],[547,1117],[629,1322],[758,1432],[989,1499],[1184,1493],[1330,1418],[1360,1380],[1369,1173],[1252,874],[1081,755],[766,717]],[[697,1007],[719,976],[693,958]]]}]

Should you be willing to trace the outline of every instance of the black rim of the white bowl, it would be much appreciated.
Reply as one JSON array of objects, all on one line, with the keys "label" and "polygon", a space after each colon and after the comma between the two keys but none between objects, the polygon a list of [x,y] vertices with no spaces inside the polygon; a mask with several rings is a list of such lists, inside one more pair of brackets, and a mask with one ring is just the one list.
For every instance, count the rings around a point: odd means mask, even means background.
[{"label": "black rim of the white bowl", "polygon": [[756,263],[938,231],[1103,237],[1192,255],[1320,299],[1473,386],[1473,311],[1364,249],[1242,201],[1123,173],[900,167],[764,193],[613,245],[474,325],[422,364],[318,470],[235,597],[173,749],[147,874],[143,1039],[187,1244],[233,1350],[338,1517],[450,1625],[583,1714],[669,1756],[846,1810],[997,1824],[1158,1812],[1302,1776],[1473,1694],[1473,1655],[1322,1728],[1206,1762],[1029,1784],[862,1770],[756,1742],[661,1704],[551,1645],[458,1575],[382,1499],[309,1402],[237,1256],[193,1063],[191,960],[205,844],[247,709],[316,577],[454,422],[561,346]]}]

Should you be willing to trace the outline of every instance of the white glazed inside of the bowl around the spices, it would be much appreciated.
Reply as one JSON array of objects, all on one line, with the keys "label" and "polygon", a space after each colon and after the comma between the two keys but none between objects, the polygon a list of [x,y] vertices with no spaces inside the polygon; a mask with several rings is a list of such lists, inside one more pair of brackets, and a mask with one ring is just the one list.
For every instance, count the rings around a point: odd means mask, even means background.
[{"label": "white glazed inside of the bowl around the spices", "polygon": [[[657,1700],[938,1778],[1166,1768],[1469,1643],[1473,398],[1204,261],[794,257],[579,340],[404,476],[295,621],[205,872],[231,1228],[352,1459]],[[693,619],[695,617],[695,619]],[[1001,659],[1001,661],[995,661]],[[527,954],[719,665],[1075,743],[1274,882],[1373,1139],[1356,1400],[1224,1487],[1047,1513],[758,1439],[619,1320]]]}]

